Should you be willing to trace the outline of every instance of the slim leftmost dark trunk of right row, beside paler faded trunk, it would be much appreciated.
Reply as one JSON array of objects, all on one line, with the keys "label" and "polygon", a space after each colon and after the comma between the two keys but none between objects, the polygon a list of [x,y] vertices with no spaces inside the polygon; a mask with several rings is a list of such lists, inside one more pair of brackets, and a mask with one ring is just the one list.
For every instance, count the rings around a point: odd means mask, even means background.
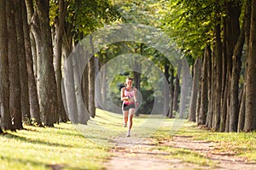
[{"label": "slim leftmost dark trunk of right row, beside paler faded trunk", "polygon": [[208,87],[207,87],[207,63],[211,59],[211,49],[209,46],[205,48],[205,54],[203,59],[203,68],[202,68],[202,79],[201,79],[201,108],[198,124],[205,125],[207,122],[207,108],[208,108]]}]

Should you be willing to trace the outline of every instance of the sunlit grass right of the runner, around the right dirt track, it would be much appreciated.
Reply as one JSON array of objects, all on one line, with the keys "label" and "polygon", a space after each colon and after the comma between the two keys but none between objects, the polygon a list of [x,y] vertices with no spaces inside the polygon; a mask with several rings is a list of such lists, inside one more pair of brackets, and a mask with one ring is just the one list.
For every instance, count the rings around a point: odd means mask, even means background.
[{"label": "sunlit grass right of the runner, around the right dirt track", "polygon": [[[172,140],[173,134],[180,136],[188,136],[195,140],[203,140],[207,142],[214,142],[218,144],[218,148],[214,150],[215,154],[220,152],[228,152],[230,155],[239,156],[247,161],[256,161],[256,133],[218,133],[211,132],[197,127],[193,122],[184,122],[183,126],[176,132],[170,131],[170,126],[173,121],[166,119],[156,133],[152,136],[158,143]],[[167,150],[170,152],[171,157],[181,159],[186,162],[195,163],[201,166],[214,167],[216,162],[207,159],[200,154],[191,150],[184,150],[179,148],[170,148],[161,146],[160,150]],[[170,158],[170,156],[168,157]]]}]

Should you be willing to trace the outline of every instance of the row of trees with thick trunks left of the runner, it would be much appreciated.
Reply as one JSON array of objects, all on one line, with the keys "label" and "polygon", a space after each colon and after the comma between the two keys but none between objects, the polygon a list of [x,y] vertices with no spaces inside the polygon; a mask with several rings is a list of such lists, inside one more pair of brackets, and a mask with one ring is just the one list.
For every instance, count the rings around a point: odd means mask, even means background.
[{"label": "row of trees with thick trunks left of the runner", "polygon": [[[101,0],[0,3],[2,129],[23,128],[22,122],[49,127],[67,122],[61,63],[74,43],[97,27],[117,20],[117,12],[108,1]],[[88,70],[94,73],[94,65]],[[93,78],[87,76],[87,82],[94,82]],[[90,93],[94,95],[94,88]],[[90,94],[84,96],[90,100]],[[95,114],[94,105],[90,112]]]}]

